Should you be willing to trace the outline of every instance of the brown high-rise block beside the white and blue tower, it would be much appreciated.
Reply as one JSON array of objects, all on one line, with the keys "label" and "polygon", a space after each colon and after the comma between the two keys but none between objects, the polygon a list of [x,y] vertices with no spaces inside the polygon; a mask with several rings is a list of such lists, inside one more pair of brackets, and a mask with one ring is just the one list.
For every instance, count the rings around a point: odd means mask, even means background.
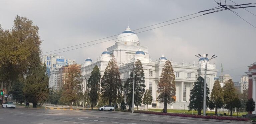
[{"label": "brown high-rise block beside the white and blue tower", "polygon": [[[78,69],[80,70],[81,72],[81,64],[76,64],[76,66],[78,67]],[[65,79],[67,78],[67,74],[69,73],[69,68],[70,68],[70,65],[65,65],[65,66],[62,66],[61,68],[59,68],[59,79],[58,79],[58,82],[57,82],[57,90],[61,90],[65,84]]]}]

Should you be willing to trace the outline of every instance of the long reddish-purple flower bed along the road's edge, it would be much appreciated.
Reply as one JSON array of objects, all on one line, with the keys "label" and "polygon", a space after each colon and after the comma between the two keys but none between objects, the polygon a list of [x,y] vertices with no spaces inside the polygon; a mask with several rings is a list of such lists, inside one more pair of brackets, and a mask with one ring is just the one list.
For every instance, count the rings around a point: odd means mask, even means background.
[{"label": "long reddish-purple flower bed along the road's edge", "polygon": [[215,119],[215,120],[231,120],[231,121],[249,121],[249,118],[234,118],[234,117],[221,117],[221,116],[202,116],[202,115],[191,115],[191,114],[176,114],[176,113],[162,113],[153,111],[139,111],[138,113],[143,114],[156,114],[156,115],[170,115],[178,117],[192,117],[192,118],[203,118],[203,119]]}]

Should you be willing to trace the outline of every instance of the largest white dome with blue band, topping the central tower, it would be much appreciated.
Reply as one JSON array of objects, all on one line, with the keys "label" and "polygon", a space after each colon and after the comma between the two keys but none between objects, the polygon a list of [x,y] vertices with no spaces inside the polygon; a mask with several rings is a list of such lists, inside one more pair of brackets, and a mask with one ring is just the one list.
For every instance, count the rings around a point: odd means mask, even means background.
[{"label": "largest white dome with blue band, topping the central tower", "polygon": [[118,44],[129,44],[129,45],[140,45],[138,36],[131,31],[129,26],[121,34],[117,36],[116,43]]}]

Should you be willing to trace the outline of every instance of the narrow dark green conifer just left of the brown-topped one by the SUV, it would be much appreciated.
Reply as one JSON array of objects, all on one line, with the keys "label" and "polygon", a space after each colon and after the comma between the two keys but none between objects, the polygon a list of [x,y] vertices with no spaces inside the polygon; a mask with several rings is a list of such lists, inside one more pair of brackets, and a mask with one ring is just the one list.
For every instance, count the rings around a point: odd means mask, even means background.
[{"label": "narrow dark green conifer just left of the brown-topped one by the SUV", "polygon": [[100,92],[100,70],[97,65],[94,66],[93,71],[91,72],[91,76],[88,80],[88,90],[89,90],[89,97],[91,101],[91,109],[93,106],[96,106],[97,100],[99,98],[98,93]]}]

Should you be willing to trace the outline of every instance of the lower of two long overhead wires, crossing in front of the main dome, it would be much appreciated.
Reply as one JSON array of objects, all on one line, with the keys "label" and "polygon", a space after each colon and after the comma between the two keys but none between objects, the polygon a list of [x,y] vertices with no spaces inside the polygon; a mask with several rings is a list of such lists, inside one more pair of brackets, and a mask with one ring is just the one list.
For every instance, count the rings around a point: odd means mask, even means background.
[{"label": "lower of two long overhead wires, crossing in front of the main dome", "polygon": [[[158,29],[158,28],[161,28],[161,27],[164,27],[164,26],[168,26],[168,25],[172,25],[172,24],[175,24],[175,23],[183,22],[183,21],[190,20],[190,19],[193,19],[193,18],[196,18],[196,17],[200,17],[200,16],[203,16],[203,15],[195,16],[195,17],[192,17],[192,18],[188,18],[188,19],[181,20],[181,21],[178,21],[178,22],[174,22],[174,23],[170,23],[170,24],[167,24],[167,25],[159,26],[159,27],[152,28],[152,29],[145,30],[145,31],[150,31],[150,30]],[[145,31],[140,31],[140,32],[133,33],[133,34],[130,34],[130,35],[142,33],[142,32],[145,32]],[[126,36],[130,36],[130,35],[126,35]],[[122,37],[126,37],[126,36],[122,36]],[[118,37],[118,38],[122,38],[122,37]],[[118,38],[114,38],[114,39],[118,39]],[[111,41],[111,40],[114,40],[114,39],[110,39],[110,40],[106,40],[106,41],[102,41],[102,42],[90,44],[90,45],[87,45],[87,46],[92,46],[92,45],[96,45],[96,44],[108,42],[108,41]],[[62,52],[67,52],[67,51],[71,51],[71,50],[75,50],[75,49],[80,49],[80,48],[87,47],[87,46],[82,46],[82,47],[78,47],[78,48],[74,48],[74,49],[69,49],[69,50],[65,50],[65,51],[61,51],[61,52],[56,52],[56,53],[53,53],[53,54],[62,53]]]}]

